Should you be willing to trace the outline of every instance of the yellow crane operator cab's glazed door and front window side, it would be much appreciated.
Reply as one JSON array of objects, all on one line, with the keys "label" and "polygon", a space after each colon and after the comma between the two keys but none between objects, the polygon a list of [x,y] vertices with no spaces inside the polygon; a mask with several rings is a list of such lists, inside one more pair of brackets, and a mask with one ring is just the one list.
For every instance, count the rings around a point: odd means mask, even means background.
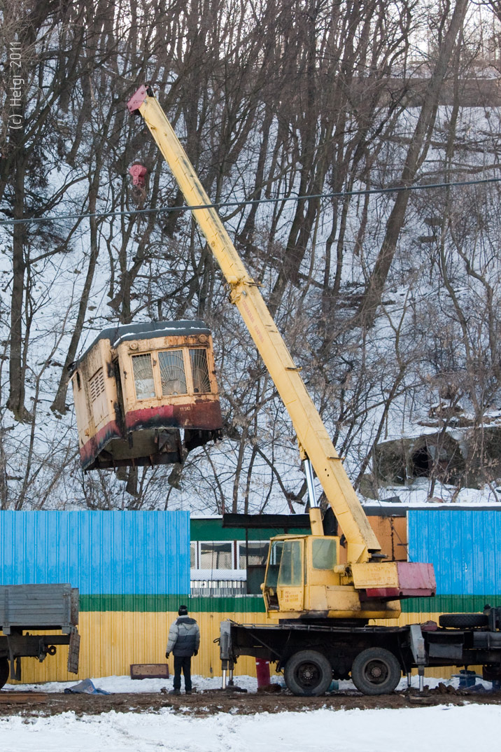
[{"label": "yellow crane operator cab's glazed door and front window side", "polygon": [[264,585],[267,611],[303,611],[305,537],[274,539]]}]

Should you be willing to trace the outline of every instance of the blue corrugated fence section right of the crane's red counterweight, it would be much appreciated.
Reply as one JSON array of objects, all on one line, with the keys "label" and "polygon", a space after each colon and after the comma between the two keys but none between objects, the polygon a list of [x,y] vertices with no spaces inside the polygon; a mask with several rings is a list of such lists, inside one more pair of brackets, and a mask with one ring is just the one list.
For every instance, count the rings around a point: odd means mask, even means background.
[{"label": "blue corrugated fence section right of the crane's red counterweight", "polygon": [[501,511],[409,510],[409,559],[432,562],[437,594],[501,594]]}]

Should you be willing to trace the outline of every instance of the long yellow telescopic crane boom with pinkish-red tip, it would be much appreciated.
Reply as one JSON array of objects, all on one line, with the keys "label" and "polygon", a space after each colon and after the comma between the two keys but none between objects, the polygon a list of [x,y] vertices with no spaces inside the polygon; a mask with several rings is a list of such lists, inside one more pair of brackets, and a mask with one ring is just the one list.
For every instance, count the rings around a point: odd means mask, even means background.
[{"label": "long yellow telescopic crane boom with pinkish-red tip", "polygon": [[[171,123],[150,89],[141,86],[128,102],[128,109],[131,112],[138,110],[143,116],[186,203],[190,207],[210,205],[210,199]],[[348,561],[367,562],[371,553],[381,550],[381,547],[327,429],[300,378],[299,368],[294,364],[259,293],[258,283],[249,276],[216,209],[193,208],[192,212],[231,288],[231,302],[240,311],[288,410],[303,459],[307,458],[312,462],[325,496],[343,529],[348,544]],[[318,528],[314,532],[317,531]]]}]

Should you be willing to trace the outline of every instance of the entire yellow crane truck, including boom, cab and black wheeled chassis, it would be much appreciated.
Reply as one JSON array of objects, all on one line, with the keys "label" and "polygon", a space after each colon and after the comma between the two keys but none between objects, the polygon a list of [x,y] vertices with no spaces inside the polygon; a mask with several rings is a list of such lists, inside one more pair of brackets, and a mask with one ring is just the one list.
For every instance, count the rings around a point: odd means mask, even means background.
[{"label": "entire yellow crane truck, including boom, cab and black wheeled chassis", "polygon": [[[262,586],[267,623],[222,623],[223,684],[241,655],[276,662],[288,689],[303,696],[321,695],[333,678],[350,675],[363,693],[388,693],[402,672],[409,675],[415,668],[422,687],[426,666],[481,665],[485,678],[498,681],[501,608],[486,607],[484,614],[442,614],[439,625],[369,625],[371,620],[398,617],[402,598],[434,596],[433,566],[382,560],[379,541],[259,283],[249,276],[152,89],[140,86],[127,106],[143,117],[219,262],[229,299],[291,417],[306,474],[312,534],[272,538]],[[338,556],[340,538],[324,535],[313,471],[343,529],[346,564]]]}]

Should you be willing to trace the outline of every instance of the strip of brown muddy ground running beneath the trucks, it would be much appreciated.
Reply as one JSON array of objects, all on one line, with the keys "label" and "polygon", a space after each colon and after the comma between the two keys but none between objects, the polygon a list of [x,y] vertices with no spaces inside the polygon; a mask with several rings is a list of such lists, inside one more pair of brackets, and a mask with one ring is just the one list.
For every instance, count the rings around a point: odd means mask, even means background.
[{"label": "strip of brown muddy ground running beneath the trucks", "polygon": [[217,713],[255,714],[284,711],[308,711],[318,708],[350,710],[352,708],[418,708],[423,705],[501,705],[501,693],[475,692],[461,694],[397,692],[369,697],[357,692],[337,692],[323,697],[295,697],[280,693],[238,693],[233,690],[206,690],[192,695],[168,693],[117,693],[112,695],[77,695],[39,692],[0,693],[0,716],[51,716],[73,711],[77,716],[116,711],[121,713],[155,712],[168,708],[174,713],[197,717]]}]

